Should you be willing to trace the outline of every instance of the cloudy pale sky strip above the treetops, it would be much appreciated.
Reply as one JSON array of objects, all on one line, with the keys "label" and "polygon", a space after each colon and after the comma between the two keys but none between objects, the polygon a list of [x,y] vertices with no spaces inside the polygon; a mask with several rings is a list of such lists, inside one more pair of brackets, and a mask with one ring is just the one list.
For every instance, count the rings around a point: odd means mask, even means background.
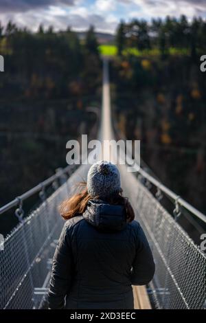
[{"label": "cloudy pale sky strip above the treetops", "polygon": [[95,25],[96,30],[114,32],[120,19],[134,17],[150,21],[167,14],[185,14],[206,18],[206,0],[0,0],[0,21],[36,30],[40,23],[53,25],[56,30],[71,26],[85,30]]}]

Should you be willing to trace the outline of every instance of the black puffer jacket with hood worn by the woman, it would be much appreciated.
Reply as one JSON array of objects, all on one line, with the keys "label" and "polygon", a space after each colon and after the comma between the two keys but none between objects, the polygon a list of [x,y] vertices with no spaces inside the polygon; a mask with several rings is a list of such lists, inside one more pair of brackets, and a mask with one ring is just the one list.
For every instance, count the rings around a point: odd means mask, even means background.
[{"label": "black puffer jacket with hood worn by the woman", "polygon": [[122,205],[89,201],[63,227],[54,254],[50,309],[133,309],[131,285],[145,285],[155,265],[137,221]]}]

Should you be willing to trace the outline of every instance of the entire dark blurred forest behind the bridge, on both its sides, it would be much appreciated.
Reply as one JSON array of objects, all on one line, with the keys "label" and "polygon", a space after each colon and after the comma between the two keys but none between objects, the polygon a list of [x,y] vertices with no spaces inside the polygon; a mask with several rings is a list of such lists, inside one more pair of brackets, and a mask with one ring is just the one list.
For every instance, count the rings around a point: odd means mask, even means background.
[{"label": "entire dark blurred forest behind the bridge, on both its sides", "polygon": [[122,21],[103,45],[92,26],[84,39],[70,27],[0,26],[1,205],[66,166],[66,142],[95,129],[89,108],[101,108],[100,47],[107,46],[116,49],[110,72],[117,131],[141,140],[148,168],[206,211],[205,21]]}]

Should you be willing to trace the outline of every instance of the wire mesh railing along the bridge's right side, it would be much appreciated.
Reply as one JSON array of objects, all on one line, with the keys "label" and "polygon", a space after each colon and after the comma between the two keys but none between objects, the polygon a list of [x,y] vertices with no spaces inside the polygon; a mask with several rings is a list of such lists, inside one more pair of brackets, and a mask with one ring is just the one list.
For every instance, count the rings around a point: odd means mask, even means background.
[{"label": "wire mesh railing along the bridge's right side", "polygon": [[155,258],[150,293],[161,309],[206,308],[206,254],[194,244],[152,193],[121,166],[124,193],[130,198]]}]

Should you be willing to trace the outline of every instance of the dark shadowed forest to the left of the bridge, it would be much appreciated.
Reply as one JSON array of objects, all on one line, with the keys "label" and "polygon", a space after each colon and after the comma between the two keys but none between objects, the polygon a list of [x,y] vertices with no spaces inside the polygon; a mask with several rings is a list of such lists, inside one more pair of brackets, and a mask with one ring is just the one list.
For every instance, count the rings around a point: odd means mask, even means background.
[{"label": "dark shadowed forest to the left of the bridge", "polygon": [[66,166],[66,143],[90,133],[100,109],[102,66],[91,27],[64,32],[0,28],[0,203]]}]

